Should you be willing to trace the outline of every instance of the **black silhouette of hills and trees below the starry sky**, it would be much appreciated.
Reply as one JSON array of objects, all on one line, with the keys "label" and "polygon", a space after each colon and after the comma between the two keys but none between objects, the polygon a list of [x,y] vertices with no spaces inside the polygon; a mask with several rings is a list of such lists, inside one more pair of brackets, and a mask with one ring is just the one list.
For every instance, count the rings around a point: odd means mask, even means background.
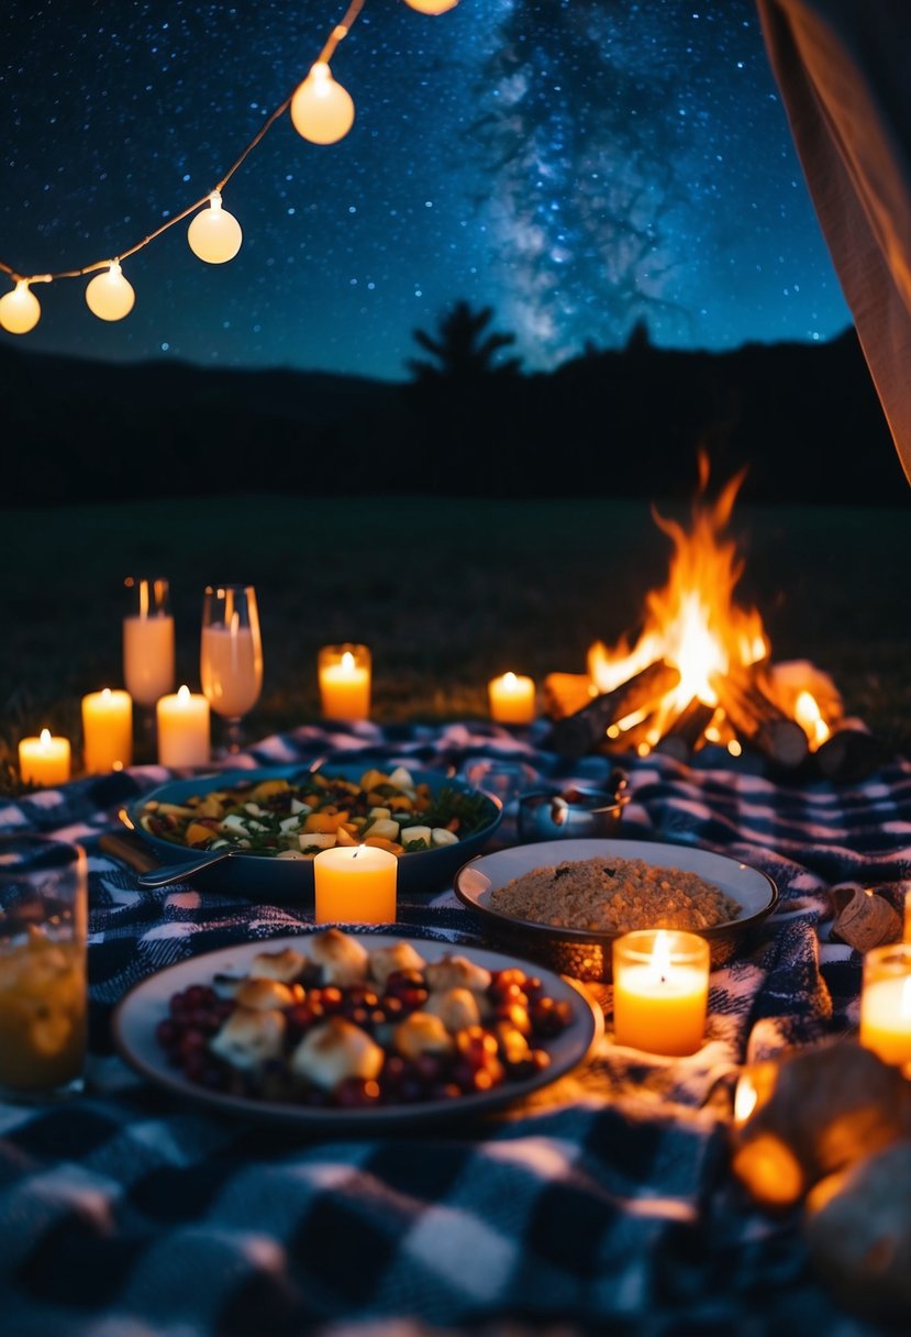
[{"label": "black silhouette of hills and trees below the starry sky", "polygon": [[854,330],[732,353],[589,350],[552,373],[386,382],[100,364],[0,344],[4,504],[282,491],[911,504]]}]

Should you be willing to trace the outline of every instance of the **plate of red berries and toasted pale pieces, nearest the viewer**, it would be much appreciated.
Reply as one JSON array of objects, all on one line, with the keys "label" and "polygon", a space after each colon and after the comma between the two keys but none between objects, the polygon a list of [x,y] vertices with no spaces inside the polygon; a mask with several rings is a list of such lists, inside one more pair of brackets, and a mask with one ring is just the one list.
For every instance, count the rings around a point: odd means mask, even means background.
[{"label": "plate of red berries and toasted pale pieces, nearest the viewer", "polygon": [[179,961],[112,1015],[119,1054],[155,1086],[327,1134],[500,1110],[602,1031],[582,987],[528,961],[339,928]]}]

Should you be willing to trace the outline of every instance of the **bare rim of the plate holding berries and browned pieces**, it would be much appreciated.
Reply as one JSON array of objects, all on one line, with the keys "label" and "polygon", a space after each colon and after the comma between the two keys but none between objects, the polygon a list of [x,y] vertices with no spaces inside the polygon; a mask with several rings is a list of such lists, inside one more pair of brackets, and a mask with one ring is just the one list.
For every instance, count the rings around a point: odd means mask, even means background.
[{"label": "bare rim of the plate holding berries and browned pieces", "polygon": [[[346,929],[347,932],[347,929]],[[363,1132],[370,1135],[382,1128],[399,1128],[413,1123],[439,1122],[453,1118],[469,1118],[488,1114],[537,1091],[557,1078],[577,1067],[589,1054],[604,1029],[604,1017],[596,1003],[582,989],[550,971],[532,965],[529,961],[492,952],[486,948],[464,947],[462,944],[439,943],[435,940],[399,937],[398,935],[358,933],[370,951],[397,941],[410,943],[426,961],[434,961],[446,952],[465,956],[477,965],[498,971],[520,965],[529,975],[537,975],[546,992],[554,999],[565,999],[573,1011],[570,1024],[558,1036],[542,1043],[550,1055],[550,1066],[532,1076],[505,1082],[493,1091],[464,1095],[456,1100],[425,1100],[414,1104],[374,1106],[365,1110],[311,1108],[285,1103],[270,1103],[243,1096],[208,1091],[190,1082],[178,1068],[168,1066],[162,1048],[155,1039],[155,1027],[168,1013],[168,1000],[178,989],[191,984],[208,984],[216,973],[244,973],[258,952],[281,952],[294,947],[306,953],[309,935],[293,937],[258,939],[236,947],[206,952],[202,956],[179,961],[156,975],[150,975],[127,993],[115,1008],[111,1027],[120,1055],[140,1076],[174,1095],[202,1102],[220,1112],[236,1114],[250,1119],[266,1119],[299,1127],[306,1131]]]}]

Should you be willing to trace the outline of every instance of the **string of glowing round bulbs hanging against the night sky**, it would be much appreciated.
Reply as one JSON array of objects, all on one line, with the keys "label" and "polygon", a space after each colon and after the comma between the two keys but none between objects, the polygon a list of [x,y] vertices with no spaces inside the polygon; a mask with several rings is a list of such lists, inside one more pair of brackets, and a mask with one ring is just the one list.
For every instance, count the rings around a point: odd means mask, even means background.
[{"label": "string of glowing round bulbs hanging against the night sky", "polygon": [[[210,265],[222,265],[232,259],[240,250],[243,231],[234,214],[222,207],[222,191],[275,122],[289,111],[298,134],[315,144],[337,143],[354,124],[354,100],[333,76],[330,60],[339,41],[347,37],[351,31],[363,4],[365,0],[350,0],[345,17],[331,29],[323,49],[310,66],[307,76],[264,120],[224,176],[202,199],[180,210],[179,214],[175,214],[174,218],[170,218],[134,246],[122,250],[118,259],[92,261],[79,269],[60,270],[55,274],[20,274],[0,259],[0,273],[8,274],[13,282],[12,290],[0,297],[0,329],[7,330],[8,334],[28,334],[29,330],[35,329],[41,318],[41,306],[31,290],[32,283],[53,283],[61,278],[84,278],[96,270],[103,270],[103,273],[96,274],[85,287],[88,309],[103,321],[123,320],[132,310],[136,294],[120,270],[120,261],[135,255],[136,251],[156,241],[175,223],[191,215],[195,217],[187,227],[187,241],[194,254]],[[435,15],[454,9],[458,0],[405,0],[405,4],[418,13]]]}]

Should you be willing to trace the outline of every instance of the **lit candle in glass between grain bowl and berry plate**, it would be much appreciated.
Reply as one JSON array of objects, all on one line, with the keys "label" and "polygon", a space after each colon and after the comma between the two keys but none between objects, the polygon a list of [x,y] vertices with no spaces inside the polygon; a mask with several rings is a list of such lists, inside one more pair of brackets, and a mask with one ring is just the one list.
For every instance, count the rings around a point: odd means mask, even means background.
[{"label": "lit candle in glass between grain bowl and berry plate", "polygon": [[613,944],[617,1044],[648,1054],[695,1054],[708,1008],[709,948],[697,933],[637,929]]}]

